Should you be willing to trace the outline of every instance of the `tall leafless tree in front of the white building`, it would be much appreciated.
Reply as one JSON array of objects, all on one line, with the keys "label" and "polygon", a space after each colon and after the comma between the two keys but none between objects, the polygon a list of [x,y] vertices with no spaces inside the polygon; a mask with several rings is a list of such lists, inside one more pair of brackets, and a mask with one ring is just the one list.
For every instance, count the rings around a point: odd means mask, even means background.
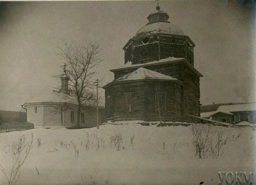
[{"label": "tall leafless tree in front of the white building", "polygon": [[[65,61],[64,71],[69,75],[69,92],[76,98],[77,106],[62,105],[62,109],[73,109],[77,112],[77,127],[80,122],[80,110],[83,105],[95,103],[95,67],[101,62],[99,58],[99,45],[84,41],[77,46],[63,41],[62,47],[58,46],[56,53]],[[60,77],[56,75],[55,77]]]}]

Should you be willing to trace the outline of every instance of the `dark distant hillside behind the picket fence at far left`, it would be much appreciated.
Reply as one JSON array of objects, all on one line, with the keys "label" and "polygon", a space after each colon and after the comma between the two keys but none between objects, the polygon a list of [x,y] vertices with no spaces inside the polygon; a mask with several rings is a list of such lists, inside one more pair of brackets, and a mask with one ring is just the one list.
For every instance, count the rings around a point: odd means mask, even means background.
[{"label": "dark distant hillside behind the picket fence at far left", "polygon": [[0,111],[0,123],[7,122],[26,122],[26,112]]}]

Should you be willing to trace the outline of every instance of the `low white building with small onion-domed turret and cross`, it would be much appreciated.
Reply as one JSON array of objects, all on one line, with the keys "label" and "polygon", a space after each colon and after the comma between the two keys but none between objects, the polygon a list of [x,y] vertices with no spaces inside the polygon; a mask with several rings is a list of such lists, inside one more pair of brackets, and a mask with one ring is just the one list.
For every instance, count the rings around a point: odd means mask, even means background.
[{"label": "low white building with small onion-domed turret and cross", "polygon": [[[69,95],[69,77],[62,75],[60,92],[49,92],[33,100],[26,101],[27,121],[35,127],[51,128],[53,126],[74,127],[77,125],[77,102]],[[104,107],[99,107],[99,124],[104,122]],[[80,127],[97,126],[96,106],[87,105],[81,108]]]}]

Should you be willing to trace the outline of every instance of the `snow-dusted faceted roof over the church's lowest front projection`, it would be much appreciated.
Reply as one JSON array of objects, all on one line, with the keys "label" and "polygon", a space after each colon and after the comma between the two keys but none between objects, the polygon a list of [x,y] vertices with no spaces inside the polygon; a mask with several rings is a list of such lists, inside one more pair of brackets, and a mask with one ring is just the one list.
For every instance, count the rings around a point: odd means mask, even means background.
[{"label": "snow-dusted faceted roof over the church's lowest front projection", "polygon": [[118,83],[118,82],[121,83],[121,82],[134,81],[134,80],[137,80],[137,81],[138,80],[173,81],[173,82],[182,84],[182,82],[179,81],[177,78],[173,78],[171,76],[140,67],[137,70],[135,70],[131,73],[128,73],[128,74],[104,85],[103,88],[106,88],[109,84],[112,84],[112,83]]}]

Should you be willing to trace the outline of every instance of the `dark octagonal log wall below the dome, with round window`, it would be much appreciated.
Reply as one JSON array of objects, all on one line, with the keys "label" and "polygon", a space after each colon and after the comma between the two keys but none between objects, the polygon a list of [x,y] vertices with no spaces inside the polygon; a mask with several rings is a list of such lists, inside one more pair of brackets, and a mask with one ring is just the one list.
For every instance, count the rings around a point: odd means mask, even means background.
[{"label": "dark octagonal log wall below the dome, with round window", "polygon": [[[143,42],[148,39],[148,43]],[[155,34],[135,38],[125,49],[125,63],[148,63],[168,57],[185,58],[194,65],[193,44],[186,36]]]}]

